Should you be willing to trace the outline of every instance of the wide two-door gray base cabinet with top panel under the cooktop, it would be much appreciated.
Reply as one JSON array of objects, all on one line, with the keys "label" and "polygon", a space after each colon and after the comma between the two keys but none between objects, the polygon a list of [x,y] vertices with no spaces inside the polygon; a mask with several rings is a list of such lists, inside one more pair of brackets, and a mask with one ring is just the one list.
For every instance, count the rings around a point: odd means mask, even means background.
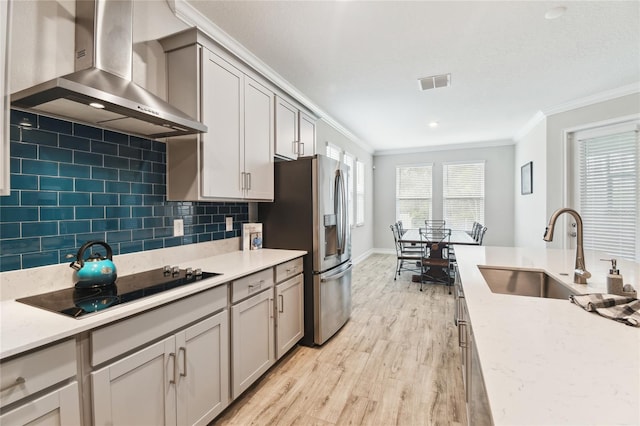
[{"label": "wide two-door gray base cabinet with top panel under the cooktop", "polygon": [[226,305],[223,285],[94,332],[93,364],[109,361],[91,373],[93,423],[211,422],[229,404]]}]

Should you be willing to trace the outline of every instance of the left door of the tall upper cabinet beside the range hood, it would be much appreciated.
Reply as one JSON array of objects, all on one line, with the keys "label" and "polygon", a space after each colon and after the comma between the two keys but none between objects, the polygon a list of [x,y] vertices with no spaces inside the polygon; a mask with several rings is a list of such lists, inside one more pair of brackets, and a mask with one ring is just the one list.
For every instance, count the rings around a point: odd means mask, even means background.
[{"label": "left door of the tall upper cabinet beside the range hood", "polygon": [[203,50],[202,196],[243,197],[243,74],[214,53]]}]

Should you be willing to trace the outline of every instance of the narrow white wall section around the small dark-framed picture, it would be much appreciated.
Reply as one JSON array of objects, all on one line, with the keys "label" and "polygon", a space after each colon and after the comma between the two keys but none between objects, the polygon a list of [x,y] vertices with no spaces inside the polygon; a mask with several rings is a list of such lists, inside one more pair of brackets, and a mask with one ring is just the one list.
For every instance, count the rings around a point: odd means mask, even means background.
[{"label": "narrow white wall section around the small dark-framed picture", "polygon": [[[545,247],[542,240],[547,217],[547,122],[543,118],[515,146],[514,245]],[[520,167],[533,162],[533,193],[520,191]]]}]

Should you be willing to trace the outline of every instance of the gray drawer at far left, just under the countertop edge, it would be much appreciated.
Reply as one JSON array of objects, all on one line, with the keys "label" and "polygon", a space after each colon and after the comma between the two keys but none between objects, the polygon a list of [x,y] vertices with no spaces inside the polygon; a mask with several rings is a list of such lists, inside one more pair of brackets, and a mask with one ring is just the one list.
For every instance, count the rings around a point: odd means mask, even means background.
[{"label": "gray drawer at far left, just under the countertop edge", "polygon": [[76,375],[76,341],[19,356],[0,365],[0,402],[18,401]]}]

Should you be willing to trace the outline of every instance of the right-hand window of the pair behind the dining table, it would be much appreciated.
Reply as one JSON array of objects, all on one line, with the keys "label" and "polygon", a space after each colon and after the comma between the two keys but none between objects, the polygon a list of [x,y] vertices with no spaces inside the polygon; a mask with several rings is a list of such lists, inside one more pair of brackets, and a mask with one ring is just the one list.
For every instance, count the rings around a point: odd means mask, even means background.
[{"label": "right-hand window of the pair behind the dining table", "polygon": [[447,228],[484,223],[484,162],[442,165],[442,207]]}]

